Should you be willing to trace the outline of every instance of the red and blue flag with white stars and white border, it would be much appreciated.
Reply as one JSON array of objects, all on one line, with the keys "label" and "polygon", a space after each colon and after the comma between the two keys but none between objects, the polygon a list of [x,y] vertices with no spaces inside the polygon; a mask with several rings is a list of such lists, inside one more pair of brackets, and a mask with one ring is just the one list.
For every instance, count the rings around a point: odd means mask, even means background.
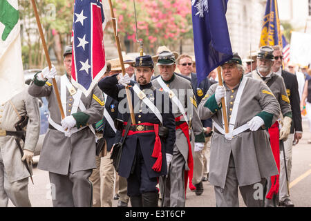
[{"label": "red and blue flag with white stars and white border", "polygon": [[71,83],[86,96],[106,72],[103,1],[76,0],[74,6]]}]

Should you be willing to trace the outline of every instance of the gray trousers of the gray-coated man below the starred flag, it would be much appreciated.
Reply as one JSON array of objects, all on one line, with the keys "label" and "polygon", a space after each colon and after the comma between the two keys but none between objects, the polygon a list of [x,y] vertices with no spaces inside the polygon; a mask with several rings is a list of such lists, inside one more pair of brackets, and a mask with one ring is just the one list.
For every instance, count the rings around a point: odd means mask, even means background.
[{"label": "gray trousers of the gray-coated man below the starred flag", "polygon": [[61,175],[49,172],[54,207],[92,206],[93,186],[88,180],[92,170]]}]

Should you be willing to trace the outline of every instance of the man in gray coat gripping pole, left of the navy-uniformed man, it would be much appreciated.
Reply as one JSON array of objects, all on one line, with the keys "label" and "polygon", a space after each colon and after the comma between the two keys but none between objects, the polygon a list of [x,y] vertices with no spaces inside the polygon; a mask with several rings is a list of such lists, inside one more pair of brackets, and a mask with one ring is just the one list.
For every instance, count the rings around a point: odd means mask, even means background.
[{"label": "man in gray coat gripping pole, left of the navy-uniformed man", "polygon": [[49,130],[44,138],[38,168],[49,172],[53,206],[91,206],[92,184],[88,177],[95,165],[95,131],[92,124],[103,115],[103,97],[95,86],[85,97],[71,81],[72,47],[64,52],[65,75],[56,77],[65,118],[62,119],[51,84],[55,67],[37,73],[28,88],[35,97],[48,98]]}]

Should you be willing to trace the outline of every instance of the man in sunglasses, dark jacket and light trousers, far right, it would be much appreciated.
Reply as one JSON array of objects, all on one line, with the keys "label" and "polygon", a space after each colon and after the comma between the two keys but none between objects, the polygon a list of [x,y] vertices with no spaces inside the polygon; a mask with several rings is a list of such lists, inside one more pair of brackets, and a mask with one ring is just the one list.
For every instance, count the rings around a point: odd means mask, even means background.
[{"label": "man in sunglasses, dark jacket and light trousers, far right", "polygon": [[[290,128],[290,135],[288,135],[288,140],[284,141],[285,150],[285,162],[286,169],[288,172],[288,181],[290,182],[290,172],[292,171],[292,144],[293,142],[297,144],[302,137],[302,124],[301,124],[301,113],[299,106],[299,90],[298,81],[295,75],[288,73],[282,69],[283,65],[283,52],[280,46],[273,46],[274,49],[274,64],[272,70],[276,75],[283,77],[286,92],[290,98],[290,105],[292,106],[292,126]],[[290,200],[290,193],[288,193],[288,188],[286,184],[286,173],[284,164],[283,152],[280,153],[280,189],[279,189],[279,205],[285,207],[292,207],[294,204]]]}]

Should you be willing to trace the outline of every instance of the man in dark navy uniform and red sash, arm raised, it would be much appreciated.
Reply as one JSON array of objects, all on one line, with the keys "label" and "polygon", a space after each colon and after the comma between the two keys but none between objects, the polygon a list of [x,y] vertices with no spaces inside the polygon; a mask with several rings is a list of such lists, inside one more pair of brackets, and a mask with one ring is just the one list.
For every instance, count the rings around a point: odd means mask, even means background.
[{"label": "man in dark navy uniform and red sash, arm raised", "polygon": [[[167,167],[176,141],[175,121],[169,94],[151,84],[153,61],[146,55],[135,59],[138,84],[129,88],[134,106],[135,123],[129,127],[123,144],[119,175],[127,178],[127,193],[135,207],[158,206],[158,177],[167,175]],[[118,83],[122,85],[118,85]],[[129,110],[124,107],[124,86],[129,75],[113,75],[102,79],[98,86],[107,95],[119,101],[124,126],[131,123]],[[122,109],[123,108],[123,109]],[[124,135],[123,135],[124,136]]]}]

